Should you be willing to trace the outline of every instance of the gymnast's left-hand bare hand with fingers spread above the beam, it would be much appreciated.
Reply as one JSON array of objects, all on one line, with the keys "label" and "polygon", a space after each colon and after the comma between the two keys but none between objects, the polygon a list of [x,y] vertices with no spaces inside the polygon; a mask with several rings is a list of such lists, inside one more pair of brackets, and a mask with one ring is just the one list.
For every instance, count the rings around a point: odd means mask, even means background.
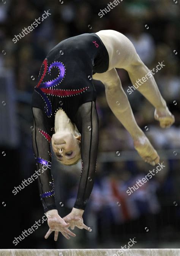
[{"label": "gymnast's left-hand bare hand with fingers spread above the beam", "polygon": [[54,240],[57,241],[58,239],[58,232],[61,232],[66,239],[70,239],[69,235],[72,237],[76,237],[76,235],[71,232],[68,227],[70,226],[69,223],[66,223],[64,219],[62,219],[58,215],[57,210],[50,210],[46,213],[47,216],[47,223],[49,226],[49,231],[47,231],[45,235],[45,239],[49,237],[49,235],[54,232]]}]

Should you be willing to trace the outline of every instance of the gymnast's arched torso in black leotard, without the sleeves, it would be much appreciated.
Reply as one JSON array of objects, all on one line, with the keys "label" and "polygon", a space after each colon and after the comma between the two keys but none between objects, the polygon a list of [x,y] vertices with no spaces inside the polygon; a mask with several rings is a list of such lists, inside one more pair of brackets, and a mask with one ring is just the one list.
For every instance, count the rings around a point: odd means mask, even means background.
[{"label": "gymnast's arched torso in black leotard, without the sleeves", "polygon": [[32,107],[43,110],[52,123],[59,109],[74,122],[79,106],[96,100],[92,75],[104,73],[108,67],[108,52],[95,33],[61,41],[43,61]]}]

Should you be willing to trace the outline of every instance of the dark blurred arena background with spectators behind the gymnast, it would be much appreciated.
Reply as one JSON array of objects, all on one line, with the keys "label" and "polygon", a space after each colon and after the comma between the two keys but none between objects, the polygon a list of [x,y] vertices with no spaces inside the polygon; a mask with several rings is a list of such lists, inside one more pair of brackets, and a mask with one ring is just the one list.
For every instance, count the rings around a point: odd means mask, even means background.
[{"label": "dark blurred arena background with spectators behind the gymnast", "polygon": [[[0,0],[0,249],[89,249],[87,255],[126,256],[156,255],[152,248],[180,248],[179,0],[116,2],[109,11],[107,0]],[[23,34],[22,29],[39,17],[41,22]],[[33,89],[41,64],[55,45],[68,37],[104,29],[125,34],[150,70],[158,63],[164,64],[154,77],[175,116],[169,129],[159,126],[154,108],[139,92],[127,92],[132,86],[128,73],[123,69],[117,72],[139,127],[165,167],[137,191],[131,189],[153,167],[139,157],[130,135],[107,105],[104,85],[94,81],[99,115],[98,161],[92,195],[83,215],[92,232],[76,227],[76,237],[70,240],[61,233],[57,242],[54,235],[46,240],[49,227],[47,221],[42,221],[44,211],[37,180],[22,185],[35,173]],[[52,174],[58,213],[63,217],[76,200],[81,163],[64,167],[53,156]],[[130,196],[126,192],[129,188],[133,191]],[[38,229],[20,241],[22,232],[38,221]],[[134,241],[131,249],[149,250],[142,254],[141,250],[132,254],[122,249],[119,254],[117,250],[106,250],[122,248],[130,240]],[[37,255],[80,256],[85,255],[83,251],[39,251]],[[165,252],[157,255],[180,255],[178,250]],[[15,255],[10,253],[0,250],[1,256]],[[16,255],[34,254],[18,250]]]}]

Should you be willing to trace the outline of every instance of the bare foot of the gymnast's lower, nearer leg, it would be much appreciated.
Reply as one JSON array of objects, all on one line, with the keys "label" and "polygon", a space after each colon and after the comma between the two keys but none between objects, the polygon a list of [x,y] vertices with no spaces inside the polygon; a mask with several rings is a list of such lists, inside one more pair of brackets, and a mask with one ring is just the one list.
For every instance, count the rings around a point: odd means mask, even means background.
[{"label": "bare foot of the gymnast's lower, nearer leg", "polygon": [[148,164],[155,166],[159,163],[158,153],[153,148],[145,134],[142,134],[140,137],[134,139],[134,148],[137,150],[142,159]]}]

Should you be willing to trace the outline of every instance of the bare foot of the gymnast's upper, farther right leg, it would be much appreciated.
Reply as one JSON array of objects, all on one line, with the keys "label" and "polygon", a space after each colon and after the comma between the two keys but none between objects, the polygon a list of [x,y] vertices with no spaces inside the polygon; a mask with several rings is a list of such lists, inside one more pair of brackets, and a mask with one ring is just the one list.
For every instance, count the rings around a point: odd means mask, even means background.
[{"label": "bare foot of the gymnast's upper, farther right leg", "polygon": [[161,128],[169,128],[174,124],[175,119],[168,107],[163,109],[155,109],[155,119],[160,122]]}]

